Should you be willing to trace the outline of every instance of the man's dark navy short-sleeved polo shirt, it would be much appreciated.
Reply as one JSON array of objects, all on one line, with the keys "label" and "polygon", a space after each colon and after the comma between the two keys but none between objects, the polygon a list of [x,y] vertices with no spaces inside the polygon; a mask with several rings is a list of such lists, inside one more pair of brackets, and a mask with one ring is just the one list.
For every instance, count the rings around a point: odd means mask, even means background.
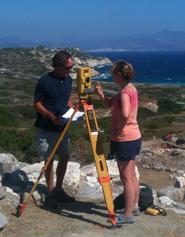
[{"label": "man's dark navy short-sleeved polo shirt", "polygon": [[[58,78],[52,72],[44,75],[38,81],[35,93],[34,102],[42,101],[43,106],[55,114],[61,116],[68,110],[68,101],[72,90],[72,78],[66,76]],[[35,126],[47,131],[61,131],[62,127],[52,123],[52,121],[37,112]]]}]

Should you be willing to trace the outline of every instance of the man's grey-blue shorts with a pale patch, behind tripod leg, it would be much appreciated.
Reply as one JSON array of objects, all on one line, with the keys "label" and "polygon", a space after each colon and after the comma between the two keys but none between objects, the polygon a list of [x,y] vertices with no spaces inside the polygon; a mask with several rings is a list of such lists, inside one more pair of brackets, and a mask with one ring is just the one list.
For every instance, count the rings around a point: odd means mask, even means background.
[{"label": "man's grey-blue shorts with a pale patch, behind tripod leg", "polygon": [[[49,132],[49,131],[45,131],[40,128],[37,128],[36,142],[37,142],[37,151],[39,155],[39,161],[43,161],[48,158],[60,135],[61,135],[61,132]],[[64,139],[59,145],[55,154],[61,157],[69,156],[69,144],[70,144],[70,139],[67,133],[64,136]]]}]

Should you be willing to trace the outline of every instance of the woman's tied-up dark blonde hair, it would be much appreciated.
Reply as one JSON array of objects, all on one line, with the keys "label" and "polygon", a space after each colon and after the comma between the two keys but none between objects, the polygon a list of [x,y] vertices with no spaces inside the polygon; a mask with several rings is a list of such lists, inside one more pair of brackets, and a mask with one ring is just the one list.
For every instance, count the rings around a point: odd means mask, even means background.
[{"label": "woman's tied-up dark blonde hair", "polygon": [[116,61],[112,66],[112,74],[120,73],[123,79],[130,80],[134,76],[134,70],[130,63],[123,60]]}]

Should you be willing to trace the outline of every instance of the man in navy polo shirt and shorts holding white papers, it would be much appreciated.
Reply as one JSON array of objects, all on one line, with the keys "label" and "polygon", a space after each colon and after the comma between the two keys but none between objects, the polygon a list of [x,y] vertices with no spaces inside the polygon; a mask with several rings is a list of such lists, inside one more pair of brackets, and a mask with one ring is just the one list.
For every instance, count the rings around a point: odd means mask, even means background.
[{"label": "man in navy polo shirt and shorts holding white papers", "polygon": [[[45,161],[65,127],[60,118],[71,105],[72,78],[69,76],[69,72],[73,67],[72,57],[68,52],[61,50],[54,55],[52,61],[54,70],[40,78],[34,93],[34,107],[37,111],[35,122],[37,146],[41,159]],[[56,152],[59,155],[59,161],[56,169],[55,188],[53,184],[53,160],[45,172],[50,195],[60,196],[61,201],[74,201],[62,189],[69,160],[68,143],[69,137],[66,135]]]}]

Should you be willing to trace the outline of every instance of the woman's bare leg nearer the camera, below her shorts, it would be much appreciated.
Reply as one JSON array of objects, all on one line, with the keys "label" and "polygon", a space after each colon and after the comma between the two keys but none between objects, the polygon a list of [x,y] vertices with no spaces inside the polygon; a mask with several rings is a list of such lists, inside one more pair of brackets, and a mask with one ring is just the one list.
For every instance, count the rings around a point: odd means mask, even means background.
[{"label": "woman's bare leg nearer the camera, below her shorts", "polygon": [[138,188],[135,175],[135,160],[118,161],[118,168],[124,187],[125,215],[132,216]]}]

